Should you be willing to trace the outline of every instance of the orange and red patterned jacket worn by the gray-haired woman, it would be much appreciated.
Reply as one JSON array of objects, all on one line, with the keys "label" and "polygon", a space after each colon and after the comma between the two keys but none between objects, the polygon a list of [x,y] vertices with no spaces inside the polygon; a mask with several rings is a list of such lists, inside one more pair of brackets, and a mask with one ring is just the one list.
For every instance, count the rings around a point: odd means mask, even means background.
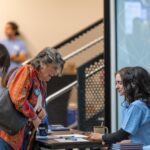
[{"label": "orange and red patterned jacket worn by the gray-haired woman", "polygon": [[[32,93],[28,99],[31,87]],[[39,80],[36,69],[31,65],[25,65],[19,68],[8,87],[8,90],[16,109],[23,113],[27,118],[34,119],[37,116],[34,112],[34,107],[36,106],[38,99],[38,93],[36,91],[41,91],[42,104],[44,106],[46,88],[46,82]],[[14,136],[8,135],[4,131],[0,131],[0,138],[5,140],[13,149],[20,150],[24,140],[24,129],[25,127]]]}]

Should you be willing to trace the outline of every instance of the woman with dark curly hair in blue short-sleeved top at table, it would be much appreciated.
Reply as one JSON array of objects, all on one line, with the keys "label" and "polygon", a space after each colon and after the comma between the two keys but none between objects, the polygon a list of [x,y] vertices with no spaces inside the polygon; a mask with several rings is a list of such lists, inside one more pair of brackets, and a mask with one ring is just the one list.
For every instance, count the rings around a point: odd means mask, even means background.
[{"label": "woman with dark curly hair in blue short-sleeved top at table", "polygon": [[127,67],[116,73],[116,89],[122,103],[121,129],[111,134],[93,133],[92,140],[112,144],[129,139],[150,145],[150,75],[142,67]]}]

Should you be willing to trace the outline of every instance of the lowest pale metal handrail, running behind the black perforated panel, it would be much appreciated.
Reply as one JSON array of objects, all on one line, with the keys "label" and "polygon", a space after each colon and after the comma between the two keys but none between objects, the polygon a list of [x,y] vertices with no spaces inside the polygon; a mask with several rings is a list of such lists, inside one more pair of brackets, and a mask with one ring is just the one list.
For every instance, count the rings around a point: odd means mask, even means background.
[{"label": "lowest pale metal handrail, running behind the black perforated panel", "polygon": [[[100,66],[99,68],[96,68],[94,71],[91,71],[89,74],[86,74],[86,78],[91,77],[93,74],[97,73],[98,71],[102,70],[104,68],[104,65]],[[66,93],[67,91],[69,91],[72,87],[74,87],[75,85],[78,84],[78,81],[74,81],[72,83],[70,83],[69,85],[65,86],[64,88],[62,88],[61,90],[51,94],[50,96],[48,96],[46,98],[46,102],[51,102],[52,100],[54,100],[55,98],[59,97],[60,95]]]}]

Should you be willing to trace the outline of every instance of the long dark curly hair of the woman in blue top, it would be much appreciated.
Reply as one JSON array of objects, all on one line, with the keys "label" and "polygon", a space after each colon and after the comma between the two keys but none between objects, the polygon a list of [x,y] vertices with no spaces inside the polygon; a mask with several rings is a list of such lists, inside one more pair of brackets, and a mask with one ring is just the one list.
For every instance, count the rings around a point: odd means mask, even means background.
[{"label": "long dark curly hair of the woman in blue top", "polygon": [[117,72],[120,74],[125,90],[125,99],[132,103],[142,99],[150,106],[150,75],[142,67],[126,67]]}]

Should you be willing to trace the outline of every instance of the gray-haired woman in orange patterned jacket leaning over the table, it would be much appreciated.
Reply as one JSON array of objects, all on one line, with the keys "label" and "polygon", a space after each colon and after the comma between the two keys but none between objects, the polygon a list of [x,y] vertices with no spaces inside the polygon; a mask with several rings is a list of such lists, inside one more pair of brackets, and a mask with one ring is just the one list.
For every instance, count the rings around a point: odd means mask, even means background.
[{"label": "gray-haired woman in orange patterned jacket leaning over the table", "polygon": [[60,53],[47,47],[28,64],[17,69],[15,74],[12,73],[7,85],[10,98],[15,108],[29,121],[13,136],[0,130],[1,149],[26,150],[29,147],[29,133],[35,131],[46,117],[46,82],[53,76],[61,75],[63,66],[64,60]]}]

